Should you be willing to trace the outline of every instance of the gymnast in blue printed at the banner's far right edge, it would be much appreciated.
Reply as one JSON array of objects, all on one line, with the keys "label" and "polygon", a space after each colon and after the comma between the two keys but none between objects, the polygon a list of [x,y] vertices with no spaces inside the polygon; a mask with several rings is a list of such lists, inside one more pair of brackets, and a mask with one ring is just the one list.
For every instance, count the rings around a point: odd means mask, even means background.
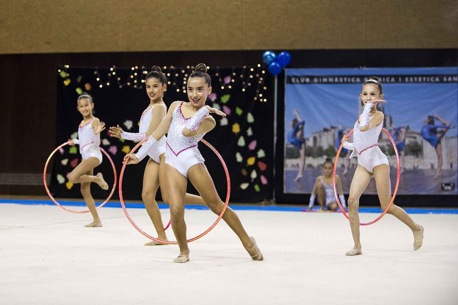
[{"label": "gymnast in blue printed at the banner's far right edge", "polygon": [[[433,112],[434,116],[427,116],[425,118],[425,125],[421,128],[421,136],[431,144],[432,147],[436,150],[437,155],[437,173],[434,177],[435,179],[440,176],[442,171],[442,143],[441,140],[445,136],[445,133],[456,126],[450,127],[450,122],[444,120],[436,112]],[[434,119],[439,120],[442,125],[435,125]],[[437,131],[437,128],[440,128]]]}]

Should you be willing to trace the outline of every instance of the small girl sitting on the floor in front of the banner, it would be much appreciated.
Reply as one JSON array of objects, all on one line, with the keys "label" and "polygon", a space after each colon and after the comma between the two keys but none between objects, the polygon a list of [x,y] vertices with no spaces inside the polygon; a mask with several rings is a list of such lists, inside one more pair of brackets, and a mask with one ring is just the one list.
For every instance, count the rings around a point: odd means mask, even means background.
[{"label": "small girl sitting on the floor in front of the banner", "polygon": [[[326,161],[323,163],[323,175],[316,178],[315,185],[313,186],[313,190],[310,195],[309,210],[312,209],[315,198],[318,199],[321,211],[324,210],[324,207],[331,211],[338,209],[336,196],[334,195],[333,168],[334,164],[331,161],[331,158],[326,158]],[[336,184],[340,204],[345,210],[347,206],[345,205],[344,191],[342,190],[342,183],[340,182],[338,174],[336,174]]]}]

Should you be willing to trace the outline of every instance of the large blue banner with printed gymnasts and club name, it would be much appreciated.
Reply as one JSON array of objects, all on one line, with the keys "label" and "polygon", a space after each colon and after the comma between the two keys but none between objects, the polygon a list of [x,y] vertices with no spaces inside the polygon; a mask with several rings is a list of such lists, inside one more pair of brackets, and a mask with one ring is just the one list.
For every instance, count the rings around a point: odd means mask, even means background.
[{"label": "large blue banner with printed gymnasts and club name", "polygon": [[[284,193],[311,193],[327,158],[334,162],[342,137],[364,108],[365,80],[377,76],[387,130],[399,153],[398,194],[457,194],[458,68],[311,68],[286,69],[284,109]],[[350,136],[351,142],[353,137]],[[392,184],[397,161],[382,132],[379,147],[387,156]],[[336,174],[345,194],[358,165],[342,149]],[[371,179],[366,194],[376,194]]]}]

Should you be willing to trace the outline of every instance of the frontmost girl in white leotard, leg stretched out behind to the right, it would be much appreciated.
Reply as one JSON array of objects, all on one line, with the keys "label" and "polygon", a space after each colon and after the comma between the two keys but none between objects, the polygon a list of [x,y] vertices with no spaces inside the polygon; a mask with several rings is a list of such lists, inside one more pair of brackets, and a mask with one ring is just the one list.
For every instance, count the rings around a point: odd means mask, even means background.
[{"label": "frontmost girl in white leotard, leg stretched out behind to the right", "polygon": [[[205,105],[207,96],[212,92],[210,75],[206,72],[205,64],[201,63],[196,66],[196,71],[189,76],[187,83],[189,102],[172,103],[164,121],[143,147],[136,154],[125,156],[127,164],[138,163],[150,149],[158,145],[159,140],[168,132],[165,153],[167,189],[172,229],[180,247],[180,255],[174,259],[174,263],[186,263],[190,260],[184,219],[187,178],[213,213],[219,215],[224,206],[204,165],[204,159],[197,149],[199,140],[216,126],[215,120],[209,113],[226,116],[224,112]],[[223,219],[240,238],[251,258],[263,260],[255,239],[248,236],[234,210],[227,207]]]}]

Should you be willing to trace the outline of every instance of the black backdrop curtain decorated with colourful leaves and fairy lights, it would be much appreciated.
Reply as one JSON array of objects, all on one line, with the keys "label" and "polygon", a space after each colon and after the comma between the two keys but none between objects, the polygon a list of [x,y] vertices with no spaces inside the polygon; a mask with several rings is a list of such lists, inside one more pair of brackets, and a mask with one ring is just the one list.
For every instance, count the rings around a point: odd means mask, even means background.
[{"label": "black backdrop curtain decorated with colourful leaves and fairy lights", "polygon": [[[207,105],[219,107],[228,116],[213,116],[217,126],[204,139],[224,158],[231,180],[231,202],[258,202],[272,198],[273,189],[273,80],[267,67],[244,66],[210,68],[213,93]],[[119,175],[122,159],[136,143],[109,137],[109,126],[119,124],[125,131],[138,132],[142,111],[149,105],[146,89],[142,86],[146,67],[59,67],[57,71],[57,143],[66,142],[78,129],[82,116],[76,110],[79,93],[86,91],[93,97],[94,116],[106,123],[101,133],[101,147],[110,155]],[[170,84],[164,102],[187,101],[185,78],[192,67],[163,69]],[[131,126],[129,129],[128,127]],[[199,150],[213,178],[220,197],[224,200],[227,184],[224,169],[217,156],[202,142]],[[113,185],[113,170],[108,159],[94,169],[102,172]],[[81,162],[78,147],[62,147],[53,161],[50,190],[55,197],[81,198],[79,185],[72,185],[66,176]],[[126,167],[123,178],[125,200],[141,200],[143,171],[146,161]],[[111,189],[111,186],[110,186]],[[94,198],[106,198],[109,191],[91,185]],[[188,183],[188,192],[196,190]],[[118,188],[112,199],[118,199]],[[158,192],[160,199],[160,192]]]}]

